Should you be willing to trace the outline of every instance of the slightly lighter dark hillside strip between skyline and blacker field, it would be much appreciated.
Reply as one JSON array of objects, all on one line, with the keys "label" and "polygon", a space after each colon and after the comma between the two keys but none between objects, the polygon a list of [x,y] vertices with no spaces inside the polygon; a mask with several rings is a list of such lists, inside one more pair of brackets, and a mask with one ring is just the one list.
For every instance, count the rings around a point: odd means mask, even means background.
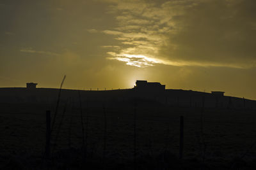
[{"label": "slightly lighter dark hillside strip between skyline and blacker field", "polygon": [[[0,88],[0,103],[56,103],[59,89],[38,88]],[[256,101],[230,96],[214,96],[205,92],[192,90],[167,89],[163,92],[139,92],[134,89],[121,90],[61,90],[61,100],[79,102],[79,93],[82,101],[97,101],[115,103],[116,101],[131,101],[143,99],[156,101],[168,106],[202,107],[205,108],[232,108],[256,110]]]}]

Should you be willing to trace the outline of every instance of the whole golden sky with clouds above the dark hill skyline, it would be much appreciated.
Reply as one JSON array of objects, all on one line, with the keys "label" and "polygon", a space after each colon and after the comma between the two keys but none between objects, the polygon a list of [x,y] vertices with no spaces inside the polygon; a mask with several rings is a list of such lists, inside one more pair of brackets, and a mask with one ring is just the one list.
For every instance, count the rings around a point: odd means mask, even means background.
[{"label": "whole golden sky with clouds above the dark hill skyline", "polygon": [[255,0],[0,0],[0,87],[167,89],[256,99]]}]

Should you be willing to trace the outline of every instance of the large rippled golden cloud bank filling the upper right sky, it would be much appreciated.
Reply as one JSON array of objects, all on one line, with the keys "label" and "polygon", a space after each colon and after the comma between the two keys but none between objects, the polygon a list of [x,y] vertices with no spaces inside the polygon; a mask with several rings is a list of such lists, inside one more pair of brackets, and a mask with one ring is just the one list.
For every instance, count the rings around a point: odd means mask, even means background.
[{"label": "large rippled golden cloud bank filling the upper right sky", "polygon": [[[126,46],[116,56],[132,66],[256,66],[253,0],[107,1],[118,25],[102,31]],[[141,61],[148,56],[158,62]],[[131,64],[128,59],[137,64]],[[143,58],[145,59],[145,58]]]}]

